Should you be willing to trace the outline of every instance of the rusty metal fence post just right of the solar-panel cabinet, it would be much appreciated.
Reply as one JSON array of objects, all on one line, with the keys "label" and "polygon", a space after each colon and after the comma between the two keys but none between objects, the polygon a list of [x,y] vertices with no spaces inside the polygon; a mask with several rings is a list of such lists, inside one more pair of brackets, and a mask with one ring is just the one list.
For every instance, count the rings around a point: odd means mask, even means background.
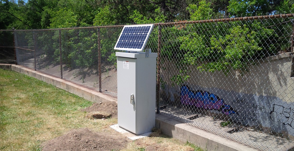
[{"label": "rusty metal fence post just right of the solar-panel cabinet", "polygon": [[157,49],[157,91],[156,91],[156,96],[157,96],[157,109],[156,113],[160,113],[160,106],[159,106],[159,97],[160,97],[160,50],[161,50],[161,26],[158,26],[158,49]]}]

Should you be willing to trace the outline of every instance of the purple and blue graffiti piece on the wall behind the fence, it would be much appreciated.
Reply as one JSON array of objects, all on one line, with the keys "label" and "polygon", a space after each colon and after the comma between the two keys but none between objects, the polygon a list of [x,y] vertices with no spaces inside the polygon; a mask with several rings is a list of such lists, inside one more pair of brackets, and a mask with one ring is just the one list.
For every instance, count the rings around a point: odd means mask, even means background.
[{"label": "purple and blue graffiti piece on the wall behind the fence", "polygon": [[181,103],[185,105],[193,105],[198,108],[203,108],[207,110],[216,110],[222,112],[225,115],[235,114],[235,110],[228,104],[223,102],[213,93],[207,91],[198,90],[196,92],[192,91],[188,86],[183,85],[181,87]]}]

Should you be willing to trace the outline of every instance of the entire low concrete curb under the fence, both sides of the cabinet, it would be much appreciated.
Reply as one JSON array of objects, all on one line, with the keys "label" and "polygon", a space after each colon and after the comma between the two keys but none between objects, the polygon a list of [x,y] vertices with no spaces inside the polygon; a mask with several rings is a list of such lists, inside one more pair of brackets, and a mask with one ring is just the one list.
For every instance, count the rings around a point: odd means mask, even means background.
[{"label": "entire low concrete curb under the fence, both sides of the cabinet", "polygon": [[[30,77],[35,77],[48,84],[52,84],[60,89],[64,89],[70,93],[76,94],[84,99],[91,102],[103,102],[103,101],[114,101],[117,102],[116,98],[110,97],[106,94],[94,91],[82,87],[80,85],[71,83],[64,79],[49,76],[39,71],[35,71],[21,65],[14,64],[0,64],[0,68],[11,69],[21,74],[26,74]],[[213,151],[255,151],[255,149],[248,146],[239,144],[232,140],[214,135],[212,133],[200,130],[196,127],[187,125],[183,122],[176,120],[174,117],[170,117],[163,114],[156,114],[156,127],[159,127],[161,131],[175,139],[183,142],[189,141],[203,148],[204,150]]]}]

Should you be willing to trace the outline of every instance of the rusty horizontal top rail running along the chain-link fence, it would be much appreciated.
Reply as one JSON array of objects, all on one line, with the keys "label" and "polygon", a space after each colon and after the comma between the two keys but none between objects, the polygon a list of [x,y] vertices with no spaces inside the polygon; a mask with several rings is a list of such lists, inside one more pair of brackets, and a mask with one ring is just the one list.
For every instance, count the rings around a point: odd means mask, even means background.
[{"label": "rusty horizontal top rail running along the chain-link fence", "polygon": [[[278,15],[265,15],[265,16],[225,18],[225,19],[208,19],[208,20],[198,20],[198,21],[176,21],[176,22],[167,22],[167,23],[155,23],[154,26],[179,25],[179,24],[199,24],[199,23],[229,22],[229,21],[248,21],[248,20],[257,20],[257,19],[262,20],[262,19],[270,19],[270,18],[287,18],[287,17],[294,17],[294,13],[293,14],[278,14]],[[72,27],[72,28],[56,28],[56,29],[16,29],[16,30],[18,30],[18,31],[47,31],[47,30],[115,28],[115,27],[123,27],[123,26],[125,26],[125,25]],[[0,30],[0,31],[12,31],[12,30]]]}]

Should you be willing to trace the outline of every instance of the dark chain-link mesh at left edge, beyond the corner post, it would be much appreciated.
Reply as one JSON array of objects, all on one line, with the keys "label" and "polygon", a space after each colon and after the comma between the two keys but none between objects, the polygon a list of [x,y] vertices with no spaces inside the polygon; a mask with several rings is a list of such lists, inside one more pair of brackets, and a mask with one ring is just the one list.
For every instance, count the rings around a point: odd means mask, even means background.
[{"label": "dark chain-link mesh at left edge, beyond the corner post", "polygon": [[12,30],[0,30],[0,63],[14,64]]}]

